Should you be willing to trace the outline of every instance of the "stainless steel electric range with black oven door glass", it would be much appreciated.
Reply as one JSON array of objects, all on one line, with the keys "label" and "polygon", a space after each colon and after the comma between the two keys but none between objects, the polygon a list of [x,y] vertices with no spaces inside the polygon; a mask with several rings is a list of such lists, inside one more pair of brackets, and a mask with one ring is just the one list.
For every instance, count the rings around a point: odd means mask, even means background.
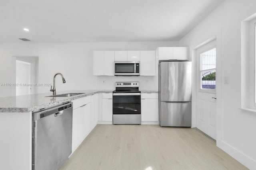
[{"label": "stainless steel electric range with black oven door glass", "polygon": [[113,124],[141,124],[139,82],[116,82]]}]

